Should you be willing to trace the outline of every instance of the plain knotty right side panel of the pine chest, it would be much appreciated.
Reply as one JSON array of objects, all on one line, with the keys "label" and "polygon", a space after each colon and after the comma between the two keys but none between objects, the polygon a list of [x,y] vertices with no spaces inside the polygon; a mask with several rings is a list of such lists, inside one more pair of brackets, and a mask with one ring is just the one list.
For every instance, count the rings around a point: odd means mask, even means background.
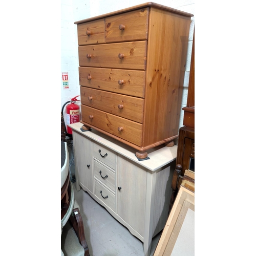
[{"label": "plain knotty right side panel of the pine chest", "polygon": [[184,81],[189,19],[151,9],[143,146],[178,134],[179,88]]}]

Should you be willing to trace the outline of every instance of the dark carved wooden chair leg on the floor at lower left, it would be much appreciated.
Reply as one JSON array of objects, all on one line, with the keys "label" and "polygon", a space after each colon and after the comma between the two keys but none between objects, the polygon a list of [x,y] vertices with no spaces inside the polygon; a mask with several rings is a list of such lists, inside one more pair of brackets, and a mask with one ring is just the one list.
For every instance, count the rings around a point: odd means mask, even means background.
[{"label": "dark carved wooden chair leg on the floor at lower left", "polygon": [[86,236],[84,235],[84,227],[83,227],[82,217],[80,215],[78,208],[73,209],[73,216],[70,216],[70,221],[71,221],[72,226],[76,232],[79,243],[81,244],[81,246],[84,249],[84,256],[90,256],[89,248],[88,248],[88,245],[86,242]]}]

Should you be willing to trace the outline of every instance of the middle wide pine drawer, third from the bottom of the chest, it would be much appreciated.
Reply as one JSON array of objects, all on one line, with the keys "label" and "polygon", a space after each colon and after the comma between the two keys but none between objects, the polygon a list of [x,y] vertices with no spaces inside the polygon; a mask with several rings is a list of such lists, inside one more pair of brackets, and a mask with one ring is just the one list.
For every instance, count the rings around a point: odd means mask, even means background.
[{"label": "middle wide pine drawer, third from the bottom of the chest", "polygon": [[145,71],[79,67],[80,86],[144,98]]}]

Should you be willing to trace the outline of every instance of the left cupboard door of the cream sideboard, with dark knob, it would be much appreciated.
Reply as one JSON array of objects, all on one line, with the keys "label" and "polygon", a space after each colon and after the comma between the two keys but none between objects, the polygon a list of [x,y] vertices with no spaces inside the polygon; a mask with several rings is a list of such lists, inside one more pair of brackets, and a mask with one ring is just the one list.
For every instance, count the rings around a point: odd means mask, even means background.
[{"label": "left cupboard door of the cream sideboard, with dark knob", "polygon": [[92,141],[73,131],[76,180],[93,192]]}]

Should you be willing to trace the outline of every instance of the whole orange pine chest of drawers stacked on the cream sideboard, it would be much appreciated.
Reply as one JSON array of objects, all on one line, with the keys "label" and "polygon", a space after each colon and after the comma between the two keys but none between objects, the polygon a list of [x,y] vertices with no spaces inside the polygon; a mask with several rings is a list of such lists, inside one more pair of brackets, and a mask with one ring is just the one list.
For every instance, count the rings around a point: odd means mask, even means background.
[{"label": "whole orange pine chest of drawers stacked on the cream sideboard", "polygon": [[138,158],[178,137],[191,16],[146,3],[75,22],[83,131]]}]

